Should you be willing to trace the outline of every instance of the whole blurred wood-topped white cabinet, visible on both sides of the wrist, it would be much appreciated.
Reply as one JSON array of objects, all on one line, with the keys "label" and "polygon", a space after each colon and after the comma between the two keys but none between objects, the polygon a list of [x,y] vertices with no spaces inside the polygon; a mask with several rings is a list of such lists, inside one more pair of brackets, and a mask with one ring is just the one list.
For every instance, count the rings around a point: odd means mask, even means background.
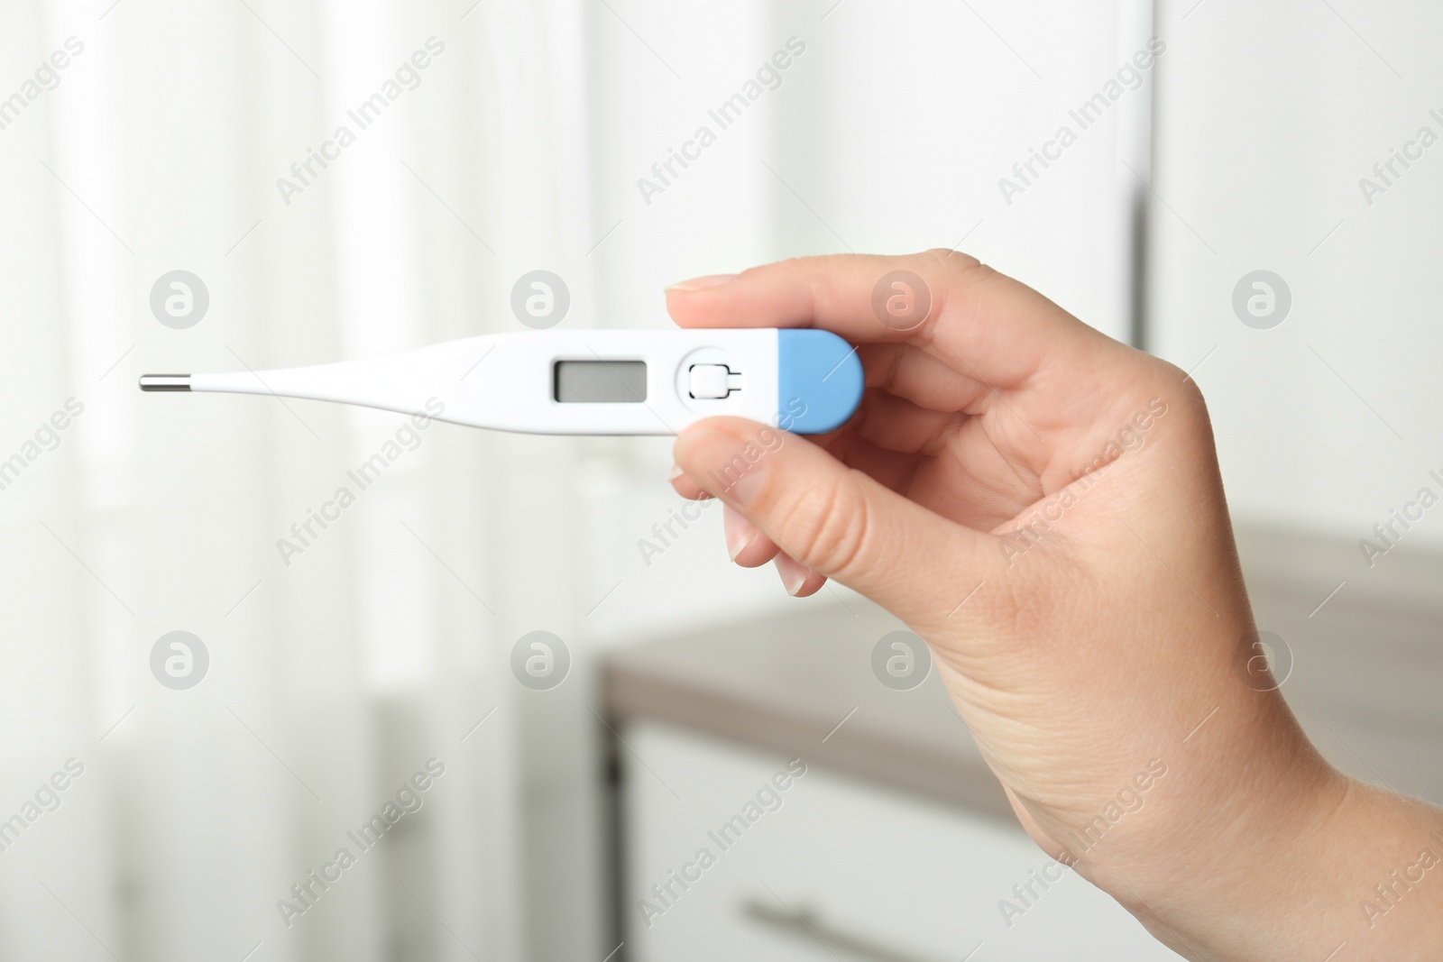
[{"label": "whole blurred wood-topped white cabinet, visible on both sides of the wrist", "polygon": [[[1351,542],[1244,529],[1238,544],[1317,747],[1443,803],[1443,560],[1400,550],[1368,577]],[[609,656],[626,958],[1176,958],[1022,832],[935,674],[879,684],[873,646],[900,625],[837,597]]]}]

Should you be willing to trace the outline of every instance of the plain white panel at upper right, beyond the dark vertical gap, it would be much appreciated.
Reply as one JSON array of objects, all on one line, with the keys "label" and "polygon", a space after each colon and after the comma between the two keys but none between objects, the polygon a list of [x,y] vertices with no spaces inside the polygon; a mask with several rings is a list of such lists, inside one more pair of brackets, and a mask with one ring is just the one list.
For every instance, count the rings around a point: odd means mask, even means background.
[{"label": "plain white panel at upper right, beyond the dark vertical gap", "polygon": [[[1443,10],[1189,7],[1169,0],[1159,16],[1156,189],[1170,211],[1153,216],[1153,349],[1185,369],[1206,358],[1196,379],[1241,522],[1371,538],[1420,487],[1443,495],[1429,477],[1443,467],[1443,147],[1371,205],[1358,183],[1420,127],[1443,137],[1429,114],[1443,107]],[[1270,330],[1229,303],[1258,268],[1293,293]],[[1443,511],[1395,529],[1404,547],[1437,550]],[[1319,600],[1338,580],[1385,575],[1385,558],[1369,571],[1359,551]]]}]

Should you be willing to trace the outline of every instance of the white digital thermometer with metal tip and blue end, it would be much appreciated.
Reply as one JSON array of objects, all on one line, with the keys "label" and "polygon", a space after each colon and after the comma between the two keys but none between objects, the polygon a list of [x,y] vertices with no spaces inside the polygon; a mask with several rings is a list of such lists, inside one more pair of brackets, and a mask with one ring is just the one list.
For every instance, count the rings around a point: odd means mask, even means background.
[{"label": "white digital thermometer with metal tip and blue end", "polygon": [[722,414],[823,434],[851,417],[861,388],[846,340],[775,327],[530,330],[368,361],[140,378],[141,391],[339,401],[525,434],[677,434]]}]

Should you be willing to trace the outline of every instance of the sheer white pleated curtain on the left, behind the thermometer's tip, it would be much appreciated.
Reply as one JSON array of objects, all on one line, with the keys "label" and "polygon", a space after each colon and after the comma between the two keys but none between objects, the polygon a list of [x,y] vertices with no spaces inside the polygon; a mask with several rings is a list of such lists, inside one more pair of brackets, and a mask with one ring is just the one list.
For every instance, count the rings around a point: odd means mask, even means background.
[{"label": "sheer white pleated curtain on the left, behind the thermometer's tip", "polygon": [[[538,548],[571,538],[577,446],[134,384],[505,329],[532,267],[589,303],[584,143],[567,134],[583,125],[577,10],[4,16],[6,82],[82,45],[0,131],[6,443],[69,397],[84,410],[0,492],[0,809],[23,816],[68,759],[84,773],[0,852],[0,955],[519,958],[527,780],[504,672],[517,636],[574,623],[577,570]],[[401,94],[362,130],[348,111],[398,69]],[[342,125],[354,143],[300,179],[291,164]],[[183,330],[149,303],[172,270],[209,293]],[[346,470],[397,437],[403,456],[359,489]],[[355,503],[293,534],[339,487]],[[521,524],[519,490],[551,509]],[[304,548],[284,557],[280,539]],[[209,656],[183,691],[150,668],[177,629]],[[442,767],[362,851],[351,832]],[[342,848],[355,864],[326,868]],[[322,890],[312,870],[341,875]],[[599,922],[577,922],[590,950]]]}]

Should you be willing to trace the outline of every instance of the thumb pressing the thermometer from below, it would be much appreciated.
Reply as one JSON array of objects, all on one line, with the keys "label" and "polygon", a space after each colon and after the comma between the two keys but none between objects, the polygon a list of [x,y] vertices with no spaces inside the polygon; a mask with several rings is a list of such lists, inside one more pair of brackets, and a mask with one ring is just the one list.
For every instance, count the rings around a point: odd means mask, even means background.
[{"label": "thumb pressing the thermometer from below", "polygon": [[990,567],[988,535],[908,500],[797,434],[707,418],[681,433],[674,454],[693,483],[781,551],[913,626],[944,620]]}]

